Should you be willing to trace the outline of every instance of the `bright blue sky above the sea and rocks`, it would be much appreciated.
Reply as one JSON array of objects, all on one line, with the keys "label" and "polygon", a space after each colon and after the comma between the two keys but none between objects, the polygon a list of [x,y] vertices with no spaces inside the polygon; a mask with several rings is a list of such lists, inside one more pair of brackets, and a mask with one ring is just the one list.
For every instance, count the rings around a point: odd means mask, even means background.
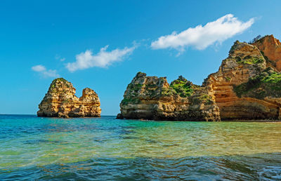
[{"label": "bright blue sky above the sea and rocks", "polygon": [[[139,71],[169,82],[183,75],[201,84],[233,41],[259,34],[280,39],[280,8],[281,1],[1,1],[0,114],[36,114],[58,75],[73,83],[77,96],[93,88],[102,115],[119,112],[126,86]],[[215,35],[213,25],[204,27],[228,14],[247,27]],[[203,29],[181,36],[197,25]]]}]

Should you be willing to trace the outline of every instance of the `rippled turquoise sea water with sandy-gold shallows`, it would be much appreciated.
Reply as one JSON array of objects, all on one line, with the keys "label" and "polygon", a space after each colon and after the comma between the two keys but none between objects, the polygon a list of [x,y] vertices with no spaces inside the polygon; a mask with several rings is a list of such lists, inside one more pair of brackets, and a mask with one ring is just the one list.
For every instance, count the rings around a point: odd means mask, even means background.
[{"label": "rippled turquoise sea water with sandy-gold shallows", "polygon": [[281,123],[0,115],[0,180],[280,180]]}]

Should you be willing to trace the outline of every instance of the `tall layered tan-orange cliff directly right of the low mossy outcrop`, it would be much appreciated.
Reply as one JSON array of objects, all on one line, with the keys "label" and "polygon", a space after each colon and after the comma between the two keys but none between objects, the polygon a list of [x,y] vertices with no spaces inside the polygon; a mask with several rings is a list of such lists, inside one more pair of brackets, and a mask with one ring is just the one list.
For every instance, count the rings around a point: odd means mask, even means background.
[{"label": "tall layered tan-orange cliff directly right of the low mossy outcrop", "polygon": [[[266,96],[273,91],[256,88],[259,83],[253,80],[268,67],[265,58],[256,46],[236,41],[230,50],[228,58],[223,60],[218,72],[210,74],[203,85],[207,86],[220,109],[222,120],[228,119],[278,119],[280,105],[267,101]],[[249,82],[250,81],[250,82]],[[252,86],[242,86],[242,85]],[[253,93],[254,88],[258,91]]]}]

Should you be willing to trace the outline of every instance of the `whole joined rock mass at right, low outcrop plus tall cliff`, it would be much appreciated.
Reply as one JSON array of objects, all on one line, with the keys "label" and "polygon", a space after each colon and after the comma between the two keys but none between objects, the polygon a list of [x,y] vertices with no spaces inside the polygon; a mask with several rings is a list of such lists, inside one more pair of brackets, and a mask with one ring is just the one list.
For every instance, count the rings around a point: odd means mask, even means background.
[{"label": "whole joined rock mass at right, low outcrop plus tall cliff", "polygon": [[138,72],[117,119],[169,121],[281,120],[281,43],[273,35],[235,41],[218,72],[202,86],[183,76]]}]

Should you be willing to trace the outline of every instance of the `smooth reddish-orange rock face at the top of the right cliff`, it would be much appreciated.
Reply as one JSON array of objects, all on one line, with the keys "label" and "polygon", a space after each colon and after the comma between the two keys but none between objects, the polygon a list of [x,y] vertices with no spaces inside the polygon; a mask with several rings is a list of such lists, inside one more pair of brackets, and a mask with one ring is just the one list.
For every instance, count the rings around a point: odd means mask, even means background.
[{"label": "smooth reddish-orange rock face at the top of the right cliff", "polygon": [[269,60],[275,63],[275,67],[281,71],[281,43],[273,35],[264,36],[259,41],[252,43],[259,48]]}]

